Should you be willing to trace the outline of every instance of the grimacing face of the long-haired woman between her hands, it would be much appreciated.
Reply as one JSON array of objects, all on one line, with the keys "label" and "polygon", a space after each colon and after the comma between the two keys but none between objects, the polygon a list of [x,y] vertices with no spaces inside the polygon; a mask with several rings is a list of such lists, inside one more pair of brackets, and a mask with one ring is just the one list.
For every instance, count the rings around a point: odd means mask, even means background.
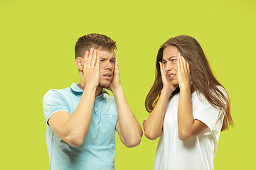
[{"label": "grimacing face of the long-haired woman between her hands", "polygon": [[173,85],[178,85],[178,54],[175,46],[166,47],[163,51],[164,70]]}]

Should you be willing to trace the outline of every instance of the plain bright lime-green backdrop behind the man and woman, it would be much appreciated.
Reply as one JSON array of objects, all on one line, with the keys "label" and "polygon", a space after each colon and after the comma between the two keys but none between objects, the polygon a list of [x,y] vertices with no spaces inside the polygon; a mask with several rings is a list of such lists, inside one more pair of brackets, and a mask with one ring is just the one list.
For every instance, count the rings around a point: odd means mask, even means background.
[{"label": "plain bright lime-green backdrop behind the man and woman", "polygon": [[[187,34],[202,45],[232,99],[235,128],[221,132],[215,169],[255,164],[255,0],[0,0],[0,169],[48,169],[42,99],[80,76],[76,40],[102,33],[117,41],[122,86],[142,123],[159,46]],[[116,169],[153,169],[158,140],[127,148],[117,135]]]}]

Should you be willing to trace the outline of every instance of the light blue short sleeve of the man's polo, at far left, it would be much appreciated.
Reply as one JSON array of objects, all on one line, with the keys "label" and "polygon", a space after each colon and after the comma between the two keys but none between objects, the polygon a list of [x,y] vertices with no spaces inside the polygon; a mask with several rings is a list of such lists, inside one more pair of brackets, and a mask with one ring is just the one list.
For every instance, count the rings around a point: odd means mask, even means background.
[{"label": "light blue short sleeve of the man's polo, at far left", "polygon": [[68,111],[68,107],[58,91],[49,90],[43,96],[43,114],[47,124],[50,116],[58,111]]}]

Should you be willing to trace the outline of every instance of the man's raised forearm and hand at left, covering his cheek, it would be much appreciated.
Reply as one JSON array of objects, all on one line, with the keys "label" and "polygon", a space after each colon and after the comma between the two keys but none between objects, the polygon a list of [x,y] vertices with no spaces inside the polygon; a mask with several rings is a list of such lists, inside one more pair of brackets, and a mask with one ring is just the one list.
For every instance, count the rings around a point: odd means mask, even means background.
[{"label": "man's raised forearm and hand at left, covering his cheek", "polygon": [[78,145],[82,145],[83,139],[90,127],[95,93],[100,81],[100,57],[97,55],[97,50],[91,48],[90,52],[86,51],[84,58],[80,60],[82,61],[79,64],[81,66],[80,86],[84,87],[84,91],[78,107],[65,123],[65,128],[68,135],[70,135],[69,140],[78,142]]}]

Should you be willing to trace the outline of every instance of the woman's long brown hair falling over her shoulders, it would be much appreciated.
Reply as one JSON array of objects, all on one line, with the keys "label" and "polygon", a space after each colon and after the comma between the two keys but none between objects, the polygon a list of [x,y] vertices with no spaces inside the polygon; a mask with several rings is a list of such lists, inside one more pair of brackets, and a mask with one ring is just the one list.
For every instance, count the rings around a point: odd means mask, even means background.
[{"label": "woman's long brown hair falling over her shoulders", "polygon": [[[146,111],[149,113],[153,111],[156,106],[156,102],[159,99],[161,89],[163,89],[159,62],[162,62],[163,60],[164,49],[169,46],[177,47],[178,51],[188,62],[191,69],[191,81],[193,88],[201,92],[203,96],[206,97],[210,105],[225,113],[221,131],[228,130],[230,125],[233,127],[234,123],[230,114],[230,98],[228,93],[227,96],[225,96],[225,93],[218,88],[218,86],[223,87],[223,85],[215,79],[201,45],[195,38],[188,35],[179,35],[174,38],[170,38],[161,45],[156,57],[155,81],[145,100]],[[225,88],[223,87],[223,89]],[[177,89],[171,94],[170,98],[175,94],[178,94],[178,92],[179,88],[177,87]]]}]

